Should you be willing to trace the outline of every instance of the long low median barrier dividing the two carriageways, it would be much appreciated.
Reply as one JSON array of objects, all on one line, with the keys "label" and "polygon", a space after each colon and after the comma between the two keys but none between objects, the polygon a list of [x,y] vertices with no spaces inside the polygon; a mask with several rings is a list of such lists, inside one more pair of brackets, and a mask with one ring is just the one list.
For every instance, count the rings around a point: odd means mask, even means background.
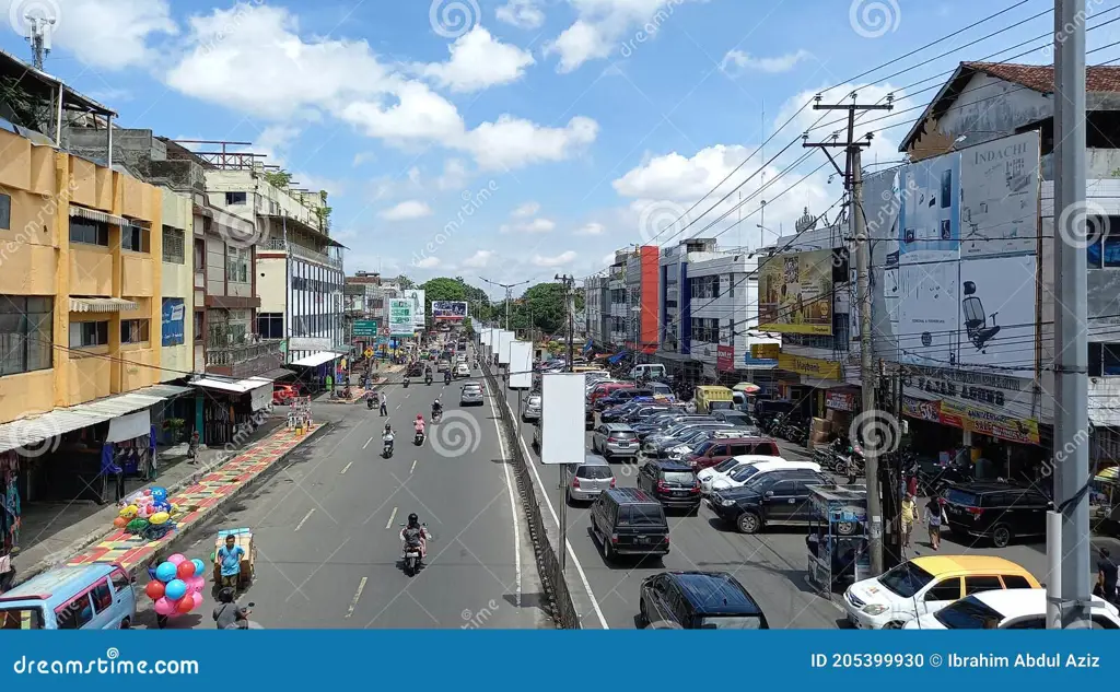
[{"label": "long low median barrier dividing the two carriageways", "polygon": [[517,436],[517,422],[513,420],[511,406],[505,398],[505,387],[491,372],[491,364],[485,359],[479,359],[483,373],[486,375],[486,384],[492,393],[498,398],[500,413],[502,415],[502,427],[506,438],[511,440],[510,447],[513,450],[513,470],[517,478],[517,490],[521,495],[521,504],[525,508],[525,517],[529,520],[529,535],[533,541],[533,552],[536,557],[536,571],[541,577],[541,588],[549,600],[549,610],[552,620],[560,629],[580,629],[579,614],[572,602],[571,592],[568,589],[568,581],[560,570],[560,559],[557,550],[564,550],[560,543],[560,527],[545,521],[541,512],[541,502],[538,501],[538,493],[544,493],[544,488],[539,488],[533,483],[529,465],[532,459],[525,458],[525,452]]}]

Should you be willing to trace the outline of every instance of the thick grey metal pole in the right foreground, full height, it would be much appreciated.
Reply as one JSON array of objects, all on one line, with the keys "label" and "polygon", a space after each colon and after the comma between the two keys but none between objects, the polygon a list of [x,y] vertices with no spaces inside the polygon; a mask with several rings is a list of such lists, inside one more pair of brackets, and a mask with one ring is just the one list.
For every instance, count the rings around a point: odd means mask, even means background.
[{"label": "thick grey metal pole in the right foreground, full height", "polygon": [[[1055,474],[1062,513],[1062,627],[1089,625],[1089,344],[1085,245],[1085,0],[1054,2],[1054,449],[1065,453]],[[1081,242],[1077,242],[1081,241]],[[1071,451],[1072,450],[1072,451]],[[1056,536],[1055,536],[1056,537]],[[1047,579],[1051,581],[1051,579]]]}]

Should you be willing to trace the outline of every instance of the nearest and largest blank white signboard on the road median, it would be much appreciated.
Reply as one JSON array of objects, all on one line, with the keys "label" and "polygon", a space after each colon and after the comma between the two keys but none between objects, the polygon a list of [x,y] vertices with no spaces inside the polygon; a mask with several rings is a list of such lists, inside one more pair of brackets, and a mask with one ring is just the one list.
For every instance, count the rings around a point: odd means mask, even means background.
[{"label": "nearest and largest blank white signboard on the road median", "polygon": [[541,464],[579,464],[584,460],[582,373],[541,376]]}]

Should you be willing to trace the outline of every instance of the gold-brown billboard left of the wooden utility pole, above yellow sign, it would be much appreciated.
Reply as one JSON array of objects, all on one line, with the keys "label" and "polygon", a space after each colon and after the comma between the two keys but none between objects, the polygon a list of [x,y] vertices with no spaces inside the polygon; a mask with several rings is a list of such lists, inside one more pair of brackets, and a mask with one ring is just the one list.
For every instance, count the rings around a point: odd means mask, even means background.
[{"label": "gold-brown billboard left of the wooden utility pole, above yellow sign", "polygon": [[832,334],[832,250],[774,255],[758,286],[759,330]]}]

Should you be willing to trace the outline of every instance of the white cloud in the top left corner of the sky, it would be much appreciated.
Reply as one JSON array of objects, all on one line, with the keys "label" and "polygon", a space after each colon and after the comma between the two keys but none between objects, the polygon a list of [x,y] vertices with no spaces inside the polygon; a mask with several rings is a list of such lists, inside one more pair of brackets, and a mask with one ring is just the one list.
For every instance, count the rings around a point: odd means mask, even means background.
[{"label": "white cloud in the top left corner of the sky", "polygon": [[54,19],[52,40],[85,65],[101,69],[149,66],[159,54],[149,45],[178,32],[168,0],[0,0],[3,17],[27,36],[26,15]]}]

